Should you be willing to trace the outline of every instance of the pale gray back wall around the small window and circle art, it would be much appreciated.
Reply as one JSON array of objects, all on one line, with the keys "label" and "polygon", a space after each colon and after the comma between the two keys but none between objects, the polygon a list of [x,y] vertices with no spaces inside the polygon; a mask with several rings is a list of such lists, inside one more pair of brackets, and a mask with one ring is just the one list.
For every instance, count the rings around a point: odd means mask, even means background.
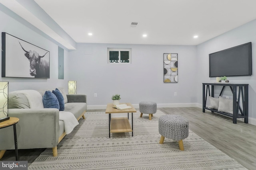
[{"label": "pale gray back wall around the small window and circle art", "polygon": [[[196,46],[78,43],[76,47],[69,53],[68,74],[77,81],[77,93],[87,95],[89,106],[106,106],[116,93],[121,102],[152,100],[158,107],[197,102]],[[108,47],[132,48],[132,63],[108,64]],[[178,53],[178,83],[163,82],[163,53]]]}]

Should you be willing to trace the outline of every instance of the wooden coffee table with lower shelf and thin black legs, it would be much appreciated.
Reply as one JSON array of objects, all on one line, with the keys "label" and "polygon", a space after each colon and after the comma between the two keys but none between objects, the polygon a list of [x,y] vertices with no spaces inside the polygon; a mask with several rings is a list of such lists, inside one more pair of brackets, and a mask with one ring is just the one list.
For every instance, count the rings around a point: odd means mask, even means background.
[{"label": "wooden coffee table with lower shelf and thin black legs", "polygon": [[[124,103],[121,103],[124,104]],[[133,136],[133,113],[136,113],[136,109],[130,103],[125,103],[127,106],[131,106],[130,109],[119,110],[113,108],[113,104],[110,103],[107,105],[106,113],[108,116],[108,125],[109,125],[109,137],[110,133],[121,133],[121,132],[132,132]],[[115,117],[111,118],[111,113],[128,113],[128,117]],[[132,113],[132,127],[129,123],[129,113]]]}]

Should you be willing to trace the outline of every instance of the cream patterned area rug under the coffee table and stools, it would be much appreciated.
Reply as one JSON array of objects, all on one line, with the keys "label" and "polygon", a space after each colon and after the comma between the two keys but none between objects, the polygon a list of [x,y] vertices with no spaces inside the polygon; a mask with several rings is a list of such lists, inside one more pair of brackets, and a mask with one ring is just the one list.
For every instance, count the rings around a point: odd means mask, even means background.
[{"label": "cream patterned area rug under the coffee table and stools", "polygon": [[[59,143],[58,156],[46,149],[28,167],[29,170],[246,170],[201,137],[189,132],[183,140],[165,139],[159,144],[157,110],[152,120],[134,113],[132,133],[113,133],[108,137],[108,114],[88,112],[74,131]],[[125,117],[127,113],[112,114]],[[129,113],[131,121],[131,113]]]}]

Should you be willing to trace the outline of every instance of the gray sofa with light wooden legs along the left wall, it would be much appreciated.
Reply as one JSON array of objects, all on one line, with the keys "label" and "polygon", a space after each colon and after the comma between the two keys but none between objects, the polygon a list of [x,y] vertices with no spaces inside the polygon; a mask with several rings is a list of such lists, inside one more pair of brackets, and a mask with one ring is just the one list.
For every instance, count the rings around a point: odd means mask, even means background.
[{"label": "gray sofa with light wooden legs along the left wall", "polygon": [[[81,117],[85,119],[86,95],[66,94],[63,88],[58,89],[64,97],[64,111],[73,113],[77,120]],[[20,119],[16,124],[18,149],[52,148],[53,156],[57,156],[57,145],[66,135],[64,121],[59,120],[59,110],[35,106],[31,108],[29,100],[42,100],[46,90],[25,91],[41,95],[33,95],[30,98],[23,90],[9,93],[9,117]],[[14,149],[13,128],[0,129],[0,158],[10,149]]]}]

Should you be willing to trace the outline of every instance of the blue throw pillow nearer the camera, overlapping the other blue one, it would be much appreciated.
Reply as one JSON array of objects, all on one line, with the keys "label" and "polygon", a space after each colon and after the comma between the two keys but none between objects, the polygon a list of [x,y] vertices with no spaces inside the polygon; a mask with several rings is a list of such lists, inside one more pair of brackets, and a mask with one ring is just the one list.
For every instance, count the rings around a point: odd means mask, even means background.
[{"label": "blue throw pillow nearer the camera, overlapping the other blue one", "polygon": [[43,96],[44,108],[60,109],[60,104],[57,97],[50,91],[46,91]]}]

